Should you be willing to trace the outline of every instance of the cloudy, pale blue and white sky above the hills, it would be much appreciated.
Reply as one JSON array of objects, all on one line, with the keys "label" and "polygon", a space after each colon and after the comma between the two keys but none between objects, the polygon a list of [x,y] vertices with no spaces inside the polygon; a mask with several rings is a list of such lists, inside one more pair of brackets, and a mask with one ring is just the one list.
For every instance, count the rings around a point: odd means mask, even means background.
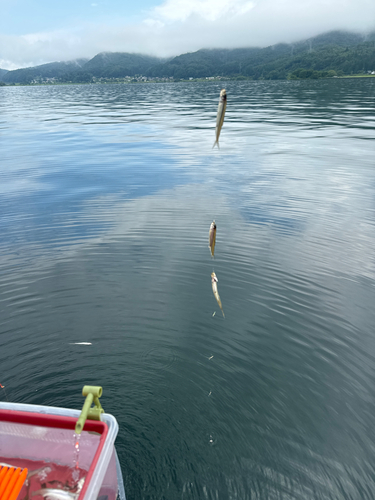
[{"label": "cloudy, pale blue and white sky above the hills", "polygon": [[99,52],[179,55],[375,29],[375,0],[0,0],[0,68]]}]

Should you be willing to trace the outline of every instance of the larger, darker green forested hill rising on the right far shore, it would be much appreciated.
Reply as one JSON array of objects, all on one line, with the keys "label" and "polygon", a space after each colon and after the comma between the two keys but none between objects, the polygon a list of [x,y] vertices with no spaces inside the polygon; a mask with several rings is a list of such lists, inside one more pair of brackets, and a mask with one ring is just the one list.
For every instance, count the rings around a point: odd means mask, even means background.
[{"label": "larger, darker green forested hill rising on the right far shore", "polygon": [[[369,37],[371,39],[371,37]],[[372,36],[372,39],[375,39]],[[375,70],[375,42],[364,37],[334,32],[295,44],[278,44],[261,49],[212,49],[183,54],[154,66],[149,76],[175,79],[205,76],[253,79],[283,79],[297,69],[342,74]]]}]

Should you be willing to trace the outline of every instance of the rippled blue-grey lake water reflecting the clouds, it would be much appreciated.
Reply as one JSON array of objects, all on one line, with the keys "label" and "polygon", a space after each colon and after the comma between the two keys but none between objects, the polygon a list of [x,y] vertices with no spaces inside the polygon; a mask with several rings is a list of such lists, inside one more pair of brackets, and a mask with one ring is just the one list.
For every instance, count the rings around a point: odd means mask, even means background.
[{"label": "rippled blue-grey lake water reflecting the clouds", "polygon": [[218,150],[221,86],[0,88],[0,382],[102,385],[128,500],[374,498],[375,79],[226,82]]}]

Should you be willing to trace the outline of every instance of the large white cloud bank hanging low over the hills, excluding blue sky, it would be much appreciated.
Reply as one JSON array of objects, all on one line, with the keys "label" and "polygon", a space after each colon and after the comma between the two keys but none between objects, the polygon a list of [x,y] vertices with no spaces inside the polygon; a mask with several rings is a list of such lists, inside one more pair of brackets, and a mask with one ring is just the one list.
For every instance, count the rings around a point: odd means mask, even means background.
[{"label": "large white cloud bank hanging low over the hills, excluding blue sky", "polygon": [[267,46],[334,29],[375,29],[374,0],[165,0],[144,20],[0,35],[0,68],[120,51],[160,56],[200,48]]}]

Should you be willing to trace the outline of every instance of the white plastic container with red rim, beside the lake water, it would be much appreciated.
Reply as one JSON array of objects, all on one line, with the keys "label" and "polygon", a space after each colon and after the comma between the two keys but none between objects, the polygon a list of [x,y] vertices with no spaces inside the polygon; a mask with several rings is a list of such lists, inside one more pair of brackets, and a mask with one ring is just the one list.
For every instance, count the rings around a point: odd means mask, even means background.
[{"label": "white plastic container with red rim, beside the lake water", "polygon": [[[68,408],[0,402],[0,457],[72,467],[74,427],[80,413]],[[115,500],[117,494],[125,500],[114,447],[118,424],[107,413],[101,420],[87,420],[79,438],[79,467],[87,471],[87,476],[77,500]]]}]

